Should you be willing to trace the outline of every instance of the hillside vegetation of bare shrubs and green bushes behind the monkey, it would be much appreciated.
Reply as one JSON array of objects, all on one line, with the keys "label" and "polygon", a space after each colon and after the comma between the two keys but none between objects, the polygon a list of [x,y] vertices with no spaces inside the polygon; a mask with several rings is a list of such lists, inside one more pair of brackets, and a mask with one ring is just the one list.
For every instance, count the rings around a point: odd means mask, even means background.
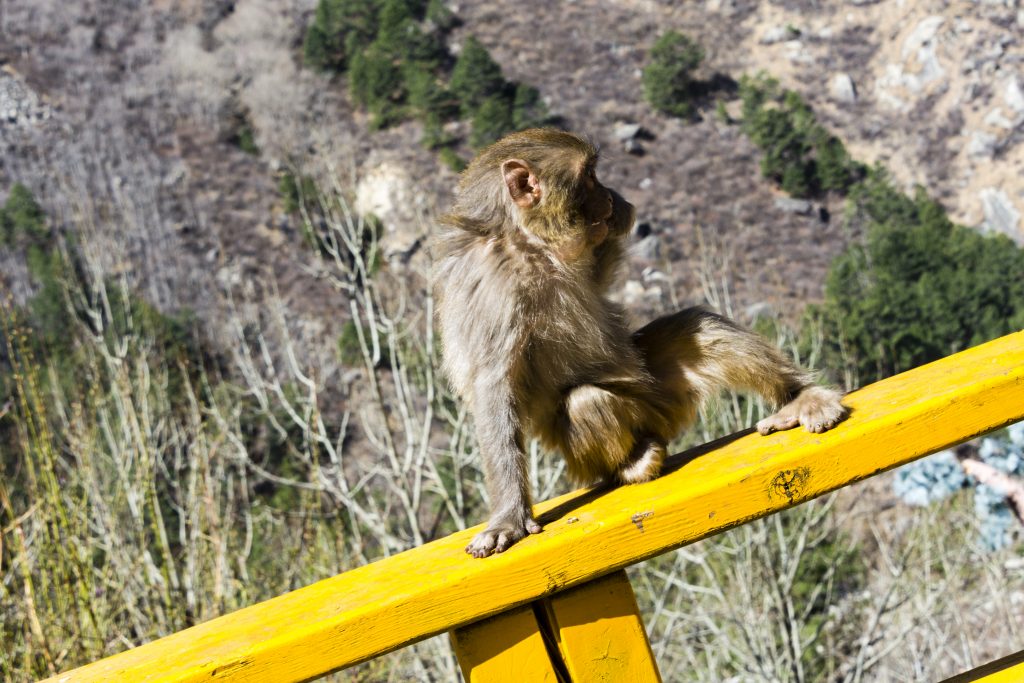
[{"label": "hillside vegetation of bare shrubs and green bushes behind the monkey", "polygon": [[[43,67],[71,65],[72,48],[43,66],[27,47],[0,55],[32,74],[6,68],[6,92],[35,82],[53,102],[71,93],[57,105],[26,91],[14,99],[28,113],[2,131],[4,680],[483,520],[472,425],[438,372],[424,243],[453,172],[507,132],[614,119],[609,182],[641,205],[616,296],[638,321],[705,303],[851,389],[1024,328],[1019,241],[957,224],[929,187],[856,159],[771,63],[723,72],[721,46],[699,32],[647,26],[633,60],[605,75],[641,125],[609,113],[591,74],[570,88],[558,63],[554,77],[535,71],[557,60],[509,49],[513,18],[506,42],[484,40],[486,8],[239,5],[143,13],[130,31],[156,32],[156,53],[134,52],[113,20],[81,24],[92,27],[81,47],[89,78],[110,67],[104,78],[127,81],[117,96],[47,81],[56,77]],[[70,20],[42,5],[4,11],[4,35],[23,29],[42,43]],[[627,53],[597,49],[609,65]],[[122,57],[137,63],[119,71]],[[79,109],[91,115],[75,118]],[[331,117],[350,128],[317,127]],[[103,123],[96,132],[83,121]],[[659,135],[690,146],[658,146]],[[137,151],[139,140],[151,146]],[[411,157],[381,152],[394,150]],[[680,156],[713,164],[693,170]],[[662,209],[643,213],[657,187],[622,170],[641,163],[693,185],[687,204],[699,211],[674,227]],[[701,204],[718,191],[750,196],[753,208]],[[765,231],[762,245],[784,251],[786,231],[799,234],[797,266],[761,257],[788,280],[768,303],[736,255],[759,250],[718,227],[752,215],[764,216],[751,228]],[[808,263],[822,267],[807,275]],[[723,396],[674,446],[745,428],[765,410]],[[992,443],[1008,463],[1019,446]],[[557,457],[532,443],[529,462],[536,499],[568,487]],[[909,508],[879,478],[632,568],[666,680],[935,680],[1019,649],[1019,531],[984,542],[986,515],[1005,502],[979,507],[977,493],[956,493],[962,479]],[[333,678],[458,677],[439,638]]]}]

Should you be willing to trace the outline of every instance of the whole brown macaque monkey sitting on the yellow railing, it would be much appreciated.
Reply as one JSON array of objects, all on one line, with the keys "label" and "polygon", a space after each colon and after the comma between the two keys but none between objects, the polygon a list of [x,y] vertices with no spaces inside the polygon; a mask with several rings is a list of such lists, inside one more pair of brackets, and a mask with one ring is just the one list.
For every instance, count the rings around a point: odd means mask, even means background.
[{"label": "whole brown macaque monkey sitting on the yellow railing", "polygon": [[707,396],[753,390],[781,409],[762,434],[822,432],[846,415],[777,349],[703,308],[636,332],[607,298],[634,209],[597,179],[597,151],[553,129],[509,135],[463,172],[442,218],[436,282],[444,371],[476,423],[490,519],[466,552],[507,550],[530,511],[528,436],[579,483],[657,476]]}]

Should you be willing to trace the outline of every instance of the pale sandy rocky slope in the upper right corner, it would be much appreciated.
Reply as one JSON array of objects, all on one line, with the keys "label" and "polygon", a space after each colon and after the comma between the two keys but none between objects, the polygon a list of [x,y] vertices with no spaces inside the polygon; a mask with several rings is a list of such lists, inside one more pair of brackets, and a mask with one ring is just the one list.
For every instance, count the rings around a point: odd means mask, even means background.
[{"label": "pale sandy rocky slope in the upper right corner", "polygon": [[742,24],[730,69],[777,77],[857,159],[924,185],[957,222],[1024,242],[1018,2],[762,2]]}]

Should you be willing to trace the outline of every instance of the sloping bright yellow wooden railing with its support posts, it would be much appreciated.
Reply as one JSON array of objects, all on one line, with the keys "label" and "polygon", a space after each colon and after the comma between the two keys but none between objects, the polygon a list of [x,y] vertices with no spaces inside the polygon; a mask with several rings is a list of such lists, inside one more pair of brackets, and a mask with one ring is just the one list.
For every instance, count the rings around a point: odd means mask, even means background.
[{"label": "sloping bright yellow wooden railing with its support posts", "polygon": [[[451,632],[470,681],[657,681],[623,567],[1024,419],[1024,332],[851,393],[835,430],[750,430],[660,478],[542,503],[544,532],[473,559],[478,528],[52,681],[301,681]],[[952,680],[1024,681],[1011,656]]]}]

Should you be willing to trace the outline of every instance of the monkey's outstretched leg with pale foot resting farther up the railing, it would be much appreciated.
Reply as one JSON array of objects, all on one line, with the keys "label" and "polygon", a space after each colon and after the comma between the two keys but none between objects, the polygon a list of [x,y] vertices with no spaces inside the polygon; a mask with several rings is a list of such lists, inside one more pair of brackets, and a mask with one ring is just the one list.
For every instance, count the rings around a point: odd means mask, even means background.
[{"label": "monkey's outstretched leg with pale foot resting farther up the railing", "polygon": [[760,336],[703,308],[660,317],[633,339],[654,379],[674,401],[691,410],[719,389],[729,388],[753,390],[781,405],[758,423],[762,434],[798,424],[822,432],[846,416],[839,391],[815,385],[809,373]]}]

